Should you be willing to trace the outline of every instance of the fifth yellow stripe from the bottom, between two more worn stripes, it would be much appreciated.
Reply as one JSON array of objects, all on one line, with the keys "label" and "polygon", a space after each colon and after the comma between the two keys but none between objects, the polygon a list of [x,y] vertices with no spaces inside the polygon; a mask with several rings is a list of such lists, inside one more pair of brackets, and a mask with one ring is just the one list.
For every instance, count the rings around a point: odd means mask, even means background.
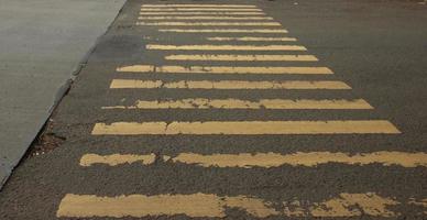
[{"label": "fifth yellow stripe from the bottom, between two more worn stripes", "polygon": [[342,81],[241,81],[241,80],[136,80],[136,79],[113,79],[112,89],[351,89]]}]

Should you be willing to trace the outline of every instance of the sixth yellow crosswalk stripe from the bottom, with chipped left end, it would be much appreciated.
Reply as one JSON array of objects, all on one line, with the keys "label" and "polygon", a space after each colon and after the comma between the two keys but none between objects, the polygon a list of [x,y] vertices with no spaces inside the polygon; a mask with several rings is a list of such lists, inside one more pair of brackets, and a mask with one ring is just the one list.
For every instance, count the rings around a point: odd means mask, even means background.
[{"label": "sixth yellow crosswalk stripe from the bottom, with chipped left end", "polygon": [[250,66],[151,66],[134,65],[117,68],[119,73],[157,74],[333,74],[327,67],[250,67]]}]

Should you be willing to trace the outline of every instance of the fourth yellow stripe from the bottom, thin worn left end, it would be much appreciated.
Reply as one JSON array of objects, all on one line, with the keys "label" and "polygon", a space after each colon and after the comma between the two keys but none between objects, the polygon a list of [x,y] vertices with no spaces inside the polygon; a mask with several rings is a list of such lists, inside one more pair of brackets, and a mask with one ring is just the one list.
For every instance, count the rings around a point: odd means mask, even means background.
[{"label": "fourth yellow stripe from the bottom, thin worn left end", "polygon": [[310,99],[182,99],[169,101],[138,100],[134,106],[102,107],[102,109],[373,109],[363,99],[310,100]]}]

